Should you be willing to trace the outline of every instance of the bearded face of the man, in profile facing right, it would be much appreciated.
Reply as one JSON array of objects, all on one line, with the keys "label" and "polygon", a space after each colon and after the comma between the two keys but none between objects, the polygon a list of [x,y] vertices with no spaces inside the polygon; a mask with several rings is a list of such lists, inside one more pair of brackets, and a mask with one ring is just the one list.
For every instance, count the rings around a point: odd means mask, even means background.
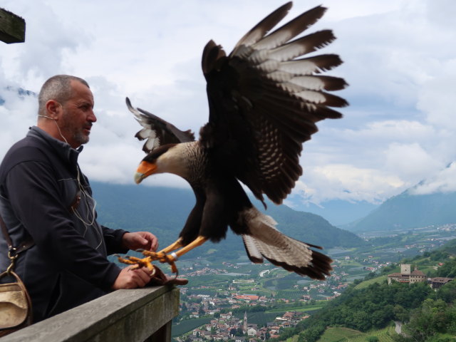
[{"label": "bearded face of the man, in profile facing right", "polygon": [[62,103],[63,113],[59,120],[61,133],[71,147],[76,148],[89,140],[90,128],[97,118],[93,113],[93,94],[78,81],[71,81],[73,95]]}]

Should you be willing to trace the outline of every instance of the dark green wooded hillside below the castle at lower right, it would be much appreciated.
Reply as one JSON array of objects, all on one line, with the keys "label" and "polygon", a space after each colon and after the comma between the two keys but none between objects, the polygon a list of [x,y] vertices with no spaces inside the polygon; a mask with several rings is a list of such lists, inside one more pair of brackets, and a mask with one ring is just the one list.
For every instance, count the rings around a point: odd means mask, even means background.
[{"label": "dark green wooded hillside below the castle at lower right", "polygon": [[[432,276],[456,277],[456,241],[447,243],[434,252],[426,252],[413,259],[441,260],[440,266]],[[396,265],[380,271],[390,273]],[[378,274],[369,274],[371,279]],[[355,289],[362,280],[354,281],[341,296],[328,302],[320,311],[301,321],[296,327],[286,329],[280,338],[270,341],[285,341],[299,334],[299,342],[315,342],[328,326],[343,326],[357,331],[368,332],[385,328],[400,321],[403,335],[397,335],[398,342],[454,341],[456,334],[456,281],[450,281],[435,291],[426,283],[400,284],[387,281],[373,283],[362,289]],[[453,336],[453,337],[451,337]]]}]

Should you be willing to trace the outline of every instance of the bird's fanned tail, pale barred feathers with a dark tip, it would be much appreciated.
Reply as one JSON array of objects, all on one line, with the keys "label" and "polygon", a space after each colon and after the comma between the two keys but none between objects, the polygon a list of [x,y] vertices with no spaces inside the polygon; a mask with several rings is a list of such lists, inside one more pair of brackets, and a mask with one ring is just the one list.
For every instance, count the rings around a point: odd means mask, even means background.
[{"label": "bird's fanned tail, pale barred feathers with a dark tip", "polygon": [[310,248],[320,247],[282,234],[274,227],[274,219],[261,214],[256,208],[251,208],[243,214],[250,234],[242,235],[242,239],[252,262],[261,263],[265,258],[271,264],[312,279],[323,280],[326,279],[325,276],[330,275],[331,258]]}]

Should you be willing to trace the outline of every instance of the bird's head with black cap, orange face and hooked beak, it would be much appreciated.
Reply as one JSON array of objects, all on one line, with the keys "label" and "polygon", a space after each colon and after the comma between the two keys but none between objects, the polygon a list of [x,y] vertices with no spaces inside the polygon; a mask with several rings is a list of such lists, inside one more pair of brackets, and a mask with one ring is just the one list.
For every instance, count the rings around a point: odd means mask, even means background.
[{"label": "bird's head with black cap, orange face and hooked beak", "polygon": [[185,144],[163,145],[152,150],[138,166],[135,173],[135,183],[139,184],[145,178],[155,173],[173,173],[180,177],[187,175]]}]

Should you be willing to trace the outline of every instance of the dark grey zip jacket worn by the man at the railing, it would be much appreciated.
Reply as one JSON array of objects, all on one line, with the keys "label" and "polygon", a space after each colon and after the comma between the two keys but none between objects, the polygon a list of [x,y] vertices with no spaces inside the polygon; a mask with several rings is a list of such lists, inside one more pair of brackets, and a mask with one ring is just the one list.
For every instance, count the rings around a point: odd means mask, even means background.
[{"label": "dark grey zip jacket worn by the man at the railing", "polygon": [[[15,266],[31,296],[34,321],[110,291],[120,268],[106,256],[126,252],[125,231],[96,222],[92,191],[78,167],[80,151],[33,127],[0,165],[0,213],[13,244],[35,243]],[[0,234],[0,271],[9,265],[7,252]]]}]

